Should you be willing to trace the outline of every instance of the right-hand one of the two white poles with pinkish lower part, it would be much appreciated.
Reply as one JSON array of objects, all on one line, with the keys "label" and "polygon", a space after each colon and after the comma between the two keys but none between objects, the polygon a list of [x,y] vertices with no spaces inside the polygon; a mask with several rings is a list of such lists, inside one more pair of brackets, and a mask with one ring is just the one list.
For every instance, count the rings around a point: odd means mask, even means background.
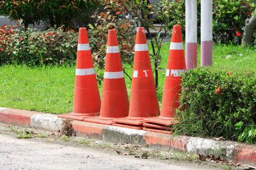
[{"label": "right-hand one of the two white poles with pinkish lower part", "polygon": [[212,65],[212,0],[201,0],[201,66]]}]

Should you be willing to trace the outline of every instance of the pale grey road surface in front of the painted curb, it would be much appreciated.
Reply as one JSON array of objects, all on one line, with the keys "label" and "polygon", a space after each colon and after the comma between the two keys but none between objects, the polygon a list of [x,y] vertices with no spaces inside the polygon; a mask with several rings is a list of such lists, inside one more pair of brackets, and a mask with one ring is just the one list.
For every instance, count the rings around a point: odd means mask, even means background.
[{"label": "pale grey road surface in front of the painted curb", "polygon": [[0,134],[0,169],[211,169],[170,160],[138,159],[102,149],[17,139]]}]

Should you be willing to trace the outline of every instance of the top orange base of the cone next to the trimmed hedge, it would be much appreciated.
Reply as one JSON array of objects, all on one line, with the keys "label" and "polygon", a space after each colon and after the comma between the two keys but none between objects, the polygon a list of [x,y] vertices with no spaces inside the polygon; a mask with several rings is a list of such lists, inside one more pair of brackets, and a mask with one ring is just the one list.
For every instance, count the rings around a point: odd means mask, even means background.
[{"label": "top orange base of the cone next to the trimmed hedge", "polygon": [[145,123],[159,124],[164,126],[172,126],[173,124],[179,124],[179,121],[177,121],[175,118],[166,118],[166,117],[144,118],[143,121]]}]

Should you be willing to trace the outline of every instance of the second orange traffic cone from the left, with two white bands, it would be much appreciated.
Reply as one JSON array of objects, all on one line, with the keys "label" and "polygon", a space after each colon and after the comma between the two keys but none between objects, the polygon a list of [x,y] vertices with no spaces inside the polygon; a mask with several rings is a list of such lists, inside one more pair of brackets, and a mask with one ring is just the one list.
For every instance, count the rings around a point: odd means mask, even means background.
[{"label": "second orange traffic cone from the left, with two white bands", "polygon": [[84,121],[111,125],[113,118],[127,117],[128,111],[129,100],[116,38],[116,29],[111,29],[108,31],[100,116],[84,118]]}]

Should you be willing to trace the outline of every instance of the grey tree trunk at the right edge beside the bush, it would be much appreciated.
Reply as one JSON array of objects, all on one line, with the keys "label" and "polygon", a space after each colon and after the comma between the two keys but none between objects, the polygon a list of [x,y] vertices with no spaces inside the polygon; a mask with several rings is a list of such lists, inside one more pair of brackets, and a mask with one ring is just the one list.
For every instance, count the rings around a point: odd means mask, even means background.
[{"label": "grey tree trunk at the right edge beside the bush", "polygon": [[253,32],[256,30],[256,8],[251,18],[247,18],[245,21],[242,46],[252,45]]}]

